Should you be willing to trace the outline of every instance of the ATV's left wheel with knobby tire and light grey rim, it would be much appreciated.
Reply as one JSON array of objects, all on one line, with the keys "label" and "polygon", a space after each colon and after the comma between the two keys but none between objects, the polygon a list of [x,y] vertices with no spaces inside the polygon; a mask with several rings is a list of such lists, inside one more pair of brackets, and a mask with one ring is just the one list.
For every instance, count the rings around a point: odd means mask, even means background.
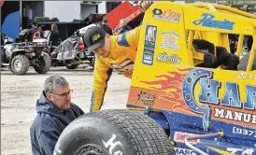
[{"label": "ATV's left wheel with knobby tire and light grey rim", "polygon": [[[18,64],[19,63],[19,64]],[[21,66],[18,66],[20,65]],[[10,71],[15,75],[25,75],[29,69],[29,60],[26,56],[19,54],[12,58]]]}]

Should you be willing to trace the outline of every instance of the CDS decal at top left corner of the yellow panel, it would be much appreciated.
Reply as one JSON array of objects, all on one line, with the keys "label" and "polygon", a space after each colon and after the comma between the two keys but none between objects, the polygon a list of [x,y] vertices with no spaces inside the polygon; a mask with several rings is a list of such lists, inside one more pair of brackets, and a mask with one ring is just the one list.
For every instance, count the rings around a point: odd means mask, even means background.
[{"label": "CDS decal at top left corner of the yellow panel", "polygon": [[154,8],[152,12],[153,18],[155,20],[178,22],[181,17],[181,13],[173,11],[171,9],[165,10],[163,12],[162,9]]}]

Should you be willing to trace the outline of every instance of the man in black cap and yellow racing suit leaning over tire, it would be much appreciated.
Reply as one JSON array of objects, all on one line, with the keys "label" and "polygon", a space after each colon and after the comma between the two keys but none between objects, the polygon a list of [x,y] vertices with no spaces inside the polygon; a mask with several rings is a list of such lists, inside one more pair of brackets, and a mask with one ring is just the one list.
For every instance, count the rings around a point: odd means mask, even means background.
[{"label": "man in black cap and yellow racing suit leaning over tire", "polygon": [[[141,3],[141,10],[152,5],[151,1]],[[83,36],[89,52],[94,52],[93,88],[91,112],[101,109],[107,81],[113,69],[125,77],[131,78],[135,65],[135,56],[140,35],[140,26],[121,35],[109,35],[101,27],[88,28]]]}]

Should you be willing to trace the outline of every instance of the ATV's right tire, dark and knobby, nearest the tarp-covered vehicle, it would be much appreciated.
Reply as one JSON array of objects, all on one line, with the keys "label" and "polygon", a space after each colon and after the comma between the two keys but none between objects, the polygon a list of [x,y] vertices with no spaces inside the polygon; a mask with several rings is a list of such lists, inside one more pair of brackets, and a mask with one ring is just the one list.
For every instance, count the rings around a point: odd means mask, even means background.
[{"label": "ATV's right tire, dark and knobby, nearest the tarp-covered vehicle", "polygon": [[50,70],[51,60],[50,55],[43,52],[43,55],[39,57],[39,66],[35,65],[34,68],[38,74],[46,74]]}]

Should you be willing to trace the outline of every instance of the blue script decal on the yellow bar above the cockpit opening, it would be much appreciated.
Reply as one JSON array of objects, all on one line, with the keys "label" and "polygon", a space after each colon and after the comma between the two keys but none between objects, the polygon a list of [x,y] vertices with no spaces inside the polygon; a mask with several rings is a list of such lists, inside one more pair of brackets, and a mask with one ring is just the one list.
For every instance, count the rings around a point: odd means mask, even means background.
[{"label": "blue script decal on the yellow bar above the cockpit opening", "polygon": [[223,29],[223,30],[233,30],[235,22],[232,21],[217,21],[214,20],[215,16],[208,14],[208,13],[203,13],[202,14],[202,19],[193,21],[192,23],[194,25],[202,25],[205,27],[210,27],[210,28],[218,28],[218,29]]}]

